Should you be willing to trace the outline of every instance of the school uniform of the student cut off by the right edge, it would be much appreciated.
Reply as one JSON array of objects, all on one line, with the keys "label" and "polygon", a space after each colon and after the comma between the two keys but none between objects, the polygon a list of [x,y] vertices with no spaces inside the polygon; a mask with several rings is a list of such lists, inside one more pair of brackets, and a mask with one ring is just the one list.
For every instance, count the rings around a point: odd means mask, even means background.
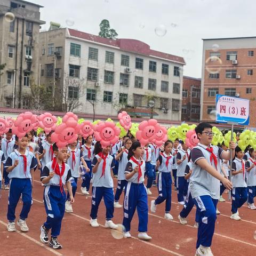
[{"label": "school uniform of the student cut off by the right edge", "polygon": [[246,185],[248,189],[248,203],[254,203],[254,197],[256,196],[256,160],[251,157],[245,163],[246,169],[250,168],[254,164],[254,167],[247,171]]}]

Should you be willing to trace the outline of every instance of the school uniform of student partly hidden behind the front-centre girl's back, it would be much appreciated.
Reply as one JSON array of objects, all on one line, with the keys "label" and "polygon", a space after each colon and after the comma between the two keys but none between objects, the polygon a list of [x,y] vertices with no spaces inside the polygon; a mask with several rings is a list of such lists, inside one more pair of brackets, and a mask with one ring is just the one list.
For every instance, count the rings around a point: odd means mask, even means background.
[{"label": "school uniform of student partly hidden behind the front-centre girl's back", "polygon": [[115,202],[118,202],[124,187],[127,185],[127,180],[125,179],[125,174],[124,174],[124,170],[128,162],[127,156],[128,156],[128,150],[125,149],[125,151],[119,158],[118,177],[117,177],[118,181],[117,181],[117,187],[116,187]]}]

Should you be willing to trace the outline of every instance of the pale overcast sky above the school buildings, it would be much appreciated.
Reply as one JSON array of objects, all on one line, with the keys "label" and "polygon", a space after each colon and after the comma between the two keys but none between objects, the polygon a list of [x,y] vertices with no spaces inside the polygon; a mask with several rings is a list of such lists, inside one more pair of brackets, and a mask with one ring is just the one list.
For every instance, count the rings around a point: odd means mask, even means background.
[{"label": "pale overcast sky above the school buildings", "polygon": [[[201,77],[202,38],[255,36],[254,0],[29,0],[44,8],[41,19],[98,35],[102,19],[118,38],[133,38],[151,49],[179,55],[184,74]],[[68,26],[74,21],[74,25]],[[68,24],[68,25],[67,25]],[[166,27],[163,37],[155,34]]]}]

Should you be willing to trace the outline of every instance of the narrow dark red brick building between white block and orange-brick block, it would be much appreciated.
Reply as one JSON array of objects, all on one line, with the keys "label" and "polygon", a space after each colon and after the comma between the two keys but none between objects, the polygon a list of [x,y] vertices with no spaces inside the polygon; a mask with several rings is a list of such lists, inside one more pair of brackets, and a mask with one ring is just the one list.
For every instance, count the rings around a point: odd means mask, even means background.
[{"label": "narrow dark red brick building between white block and orange-brick block", "polygon": [[200,120],[201,78],[183,76],[181,121]]}]

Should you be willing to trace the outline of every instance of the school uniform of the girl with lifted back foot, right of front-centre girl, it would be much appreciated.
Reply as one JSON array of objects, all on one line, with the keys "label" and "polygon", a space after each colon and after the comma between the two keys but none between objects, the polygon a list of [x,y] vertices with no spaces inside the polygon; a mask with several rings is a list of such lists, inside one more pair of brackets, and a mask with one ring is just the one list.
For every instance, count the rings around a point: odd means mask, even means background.
[{"label": "school uniform of the girl with lifted back foot, right of front-centre girl", "polygon": [[161,204],[165,201],[165,213],[171,211],[171,201],[172,201],[172,163],[173,156],[160,153],[158,157],[160,165],[158,167],[158,180],[157,189],[159,196],[155,200],[155,204]]}]

